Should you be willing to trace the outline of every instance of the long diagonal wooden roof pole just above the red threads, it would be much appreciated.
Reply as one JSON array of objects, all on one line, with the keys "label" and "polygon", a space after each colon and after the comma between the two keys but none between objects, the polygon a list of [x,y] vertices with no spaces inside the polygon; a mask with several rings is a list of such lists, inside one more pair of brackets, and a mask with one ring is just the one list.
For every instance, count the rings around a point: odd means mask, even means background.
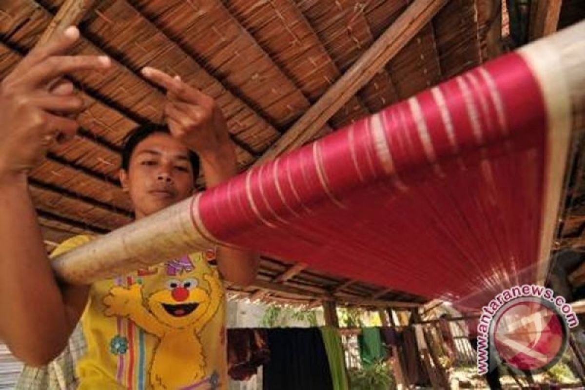
[{"label": "long diagonal wooden roof pole just above the red threads", "polygon": [[374,44],[294,125],[264,153],[264,163],[310,140],[353,95],[367,84],[446,4],[415,0]]}]

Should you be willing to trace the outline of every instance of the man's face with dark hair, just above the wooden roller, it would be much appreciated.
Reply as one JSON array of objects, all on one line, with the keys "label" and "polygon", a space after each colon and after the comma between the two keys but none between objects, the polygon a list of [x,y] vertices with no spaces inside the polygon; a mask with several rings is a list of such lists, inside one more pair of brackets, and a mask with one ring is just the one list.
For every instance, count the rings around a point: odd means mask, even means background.
[{"label": "man's face with dark hair, just above the wooden roller", "polygon": [[167,133],[153,133],[132,152],[120,181],[134,206],[136,219],[188,198],[194,180],[189,151]]}]

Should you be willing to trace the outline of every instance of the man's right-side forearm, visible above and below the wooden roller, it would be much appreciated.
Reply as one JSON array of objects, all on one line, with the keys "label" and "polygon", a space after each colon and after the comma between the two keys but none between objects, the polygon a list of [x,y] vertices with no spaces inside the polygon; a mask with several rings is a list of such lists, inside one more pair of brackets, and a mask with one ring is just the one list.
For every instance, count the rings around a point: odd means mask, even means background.
[{"label": "man's right-side forearm, visible above and below the wooden roller", "polygon": [[[224,150],[201,156],[201,168],[207,188],[215,187],[234,177],[238,168],[236,154],[231,145]],[[218,268],[223,278],[240,286],[252,284],[260,261],[256,254],[221,246],[218,248]]]}]

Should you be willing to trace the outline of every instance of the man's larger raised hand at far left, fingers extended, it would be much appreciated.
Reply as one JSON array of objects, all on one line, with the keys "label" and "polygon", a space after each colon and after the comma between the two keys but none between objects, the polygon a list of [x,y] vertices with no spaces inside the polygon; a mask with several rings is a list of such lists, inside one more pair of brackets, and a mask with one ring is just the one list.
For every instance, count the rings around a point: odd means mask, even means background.
[{"label": "man's larger raised hand at far left, fingers extended", "polygon": [[43,46],[31,50],[0,83],[0,180],[29,172],[53,142],[64,142],[77,132],[77,120],[68,115],[83,109],[68,73],[104,70],[106,56],[67,56],[80,34],[69,27]]}]

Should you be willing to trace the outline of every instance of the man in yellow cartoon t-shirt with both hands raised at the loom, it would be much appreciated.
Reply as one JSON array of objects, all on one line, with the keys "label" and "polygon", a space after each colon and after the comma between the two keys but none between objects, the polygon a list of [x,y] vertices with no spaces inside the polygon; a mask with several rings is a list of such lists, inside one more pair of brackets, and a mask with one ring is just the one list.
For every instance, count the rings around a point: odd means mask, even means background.
[{"label": "man in yellow cartoon t-shirt with both hands raised at the loom", "polygon": [[[76,367],[80,389],[226,388],[222,279],[250,284],[258,267],[252,253],[218,247],[216,267],[211,250],[89,286],[67,285],[51,270],[27,174],[77,130],[71,115],[82,101],[63,76],[111,66],[107,57],[64,55],[79,35],[70,27],[36,47],[0,85],[0,339],[26,364],[43,366],[80,322],[87,343]],[[140,128],[125,143],[119,178],[135,219],[191,196],[199,167],[208,188],[236,174],[214,100],[159,70],[142,74],[167,91],[167,127]],[[92,239],[72,237],[52,256]]]}]

